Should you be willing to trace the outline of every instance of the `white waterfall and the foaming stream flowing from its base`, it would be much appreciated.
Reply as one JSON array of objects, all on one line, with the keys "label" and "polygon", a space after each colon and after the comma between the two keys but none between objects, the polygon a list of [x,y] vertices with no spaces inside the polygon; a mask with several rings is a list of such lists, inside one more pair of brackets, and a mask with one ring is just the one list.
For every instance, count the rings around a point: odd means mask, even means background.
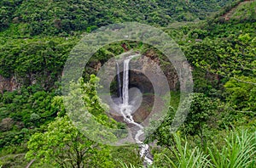
[{"label": "white waterfall and the foaming stream flowing from its base", "polygon": [[[143,135],[143,126],[135,122],[131,115],[131,105],[129,104],[129,63],[130,60],[133,57],[136,57],[137,55],[132,55],[128,57],[128,59],[124,60],[124,72],[123,72],[123,88],[122,88],[122,98],[123,102],[120,104],[120,112],[124,116],[124,120],[127,123],[133,124],[139,128],[137,131],[137,134],[135,135],[135,141],[137,144],[139,144],[141,151],[140,156],[144,159],[145,165],[151,165],[153,163],[153,160],[150,159],[148,156],[149,153],[149,146],[148,144],[144,144],[139,137]],[[119,66],[118,66],[119,67]]]}]

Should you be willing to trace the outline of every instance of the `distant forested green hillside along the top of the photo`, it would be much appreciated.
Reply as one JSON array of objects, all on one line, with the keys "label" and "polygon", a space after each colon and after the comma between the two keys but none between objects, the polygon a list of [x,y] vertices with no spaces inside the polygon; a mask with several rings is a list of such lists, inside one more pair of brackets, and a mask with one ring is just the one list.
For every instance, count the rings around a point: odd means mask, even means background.
[{"label": "distant forested green hillside along the top of the photo", "polygon": [[[1,1],[0,29],[13,28],[17,36],[65,36],[102,25],[138,21],[166,26],[173,21],[205,20],[231,0],[212,1]],[[16,27],[16,28],[15,28]]]}]

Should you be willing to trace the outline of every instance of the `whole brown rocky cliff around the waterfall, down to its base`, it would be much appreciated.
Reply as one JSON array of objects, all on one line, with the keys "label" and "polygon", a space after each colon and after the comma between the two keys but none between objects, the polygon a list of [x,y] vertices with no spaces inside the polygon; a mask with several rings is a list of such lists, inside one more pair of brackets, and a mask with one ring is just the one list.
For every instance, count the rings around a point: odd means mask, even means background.
[{"label": "whole brown rocky cliff around the waterfall, down to its base", "polygon": [[[102,95],[106,95],[110,87],[113,98],[115,98],[114,95],[118,92],[116,63],[119,64],[120,81],[123,82],[124,60],[134,54],[137,53],[127,52],[117,58],[109,59],[98,71],[97,76],[101,79],[100,85],[103,86]],[[142,92],[142,103],[132,115],[135,121],[141,123],[147,119],[148,115],[152,114],[152,111],[161,111],[161,108],[164,107],[162,98],[166,93],[170,90],[179,89],[177,71],[172,63],[160,59],[156,53],[149,52],[131,59],[129,64],[129,87],[137,87]],[[103,96],[102,100],[108,104],[108,98]],[[132,98],[131,101],[133,101]],[[153,105],[156,105],[158,109],[153,109]],[[116,110],[118,109],[111,109],[110,105],[111,117],[122,122],[123,117]],[[148,121],[146,120],[146,122]]]}]

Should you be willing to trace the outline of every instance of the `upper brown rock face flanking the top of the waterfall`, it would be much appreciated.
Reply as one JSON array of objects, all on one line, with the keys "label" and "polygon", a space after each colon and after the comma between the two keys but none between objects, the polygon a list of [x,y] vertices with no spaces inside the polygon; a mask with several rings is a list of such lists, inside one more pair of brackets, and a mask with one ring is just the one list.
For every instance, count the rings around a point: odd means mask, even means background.
[{"label": "upper brown rock face flanking the top of the waterfall", "polygon": [[[102,82],[101,85],[106,87],[106,92],[108,92],[108,85],[110,83],[113,84],[111,91],[117,92],[117,88],[114,87],[116,82],[115,64],[116,62],[119,64],[119,75],[122,79],[124,59],[132,54],[134,53],[128,52],[126,55],[121,56],[121,58],[119,57],[119,59],[110,59],[103,65],[103,70],[98,71],[98,76]],[[172,63],[159,59],[157,54],[153,52],[148,52],[131,59],[129,78],[129,86],[137,87],[143,93],[160,92],[160,94],[164,94],[164,91],[161,90],[164,90],[162,87],[166,86],[165,82],[169,85],[170,90],[179,89],[177,71]]]}]

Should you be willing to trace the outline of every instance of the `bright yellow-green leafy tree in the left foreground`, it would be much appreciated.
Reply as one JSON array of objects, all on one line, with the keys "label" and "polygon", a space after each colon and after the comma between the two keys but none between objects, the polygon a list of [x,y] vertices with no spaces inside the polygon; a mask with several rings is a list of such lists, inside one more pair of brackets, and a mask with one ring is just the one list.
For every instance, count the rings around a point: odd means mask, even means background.
[{"label": "bright yellow-green leafy tree in the left foreground", "polygon": [[[96,76],[90,76],[90,81],[84,82],[81,78],[78,82],[71,82],[73,90],[70,94],[53,99],[51,108],[58,113],[55,121],[49,123],[45,132],[39,132],[32,135],[28,142],[29,151],[26,154],[27,159],[38,158],[42,163],[51,163],[55,166],[61,167],[113,167],[112,161],[109,161],[108,146],[103,146],[101,143],[96,143],[86,136],[107,135],[104,130],[91,129],[82,131],[92,125],[88,118],[83,117],[83,113],[73,111],[73,115],[78,115],[82,120],[69,120],[63,106],[63,98],[67,98],[69,107],[66,109],[76,109],[74,102],[78,99],[73,95],[79,95],[82,92],[82,99],[84,100],[84,109],[93,115],[102,125],[115,127],[116,122],[108,119],[108,115],[104,113],[100,98],[97,96],[96,86],[99,79]],[[68,114],[68,113],[67,113]],[[61,117],[62,116],[62,117]],[[71,117],[71,114],[68,115]],[[71,119],[73,119],[71,117]],[[79,122],[79,125],[76,123]],[[83,124],[82,127],[80,124]],[[74,125],[73,125],[74,124]],[[79,129],[78,129],[79,128]],[[90,133],[88,133],[90,132]],[[114,135],[110,133],[109,138],[114,139]]]}]

